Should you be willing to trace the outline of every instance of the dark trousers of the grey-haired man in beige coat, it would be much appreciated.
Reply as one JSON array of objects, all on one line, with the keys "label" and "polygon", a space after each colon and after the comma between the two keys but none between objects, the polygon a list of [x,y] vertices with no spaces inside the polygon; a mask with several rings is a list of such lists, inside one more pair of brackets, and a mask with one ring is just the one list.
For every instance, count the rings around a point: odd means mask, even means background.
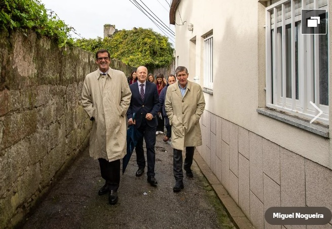
[{"label": "dark trousers of the grey-haired man in beige coat", "polygon": [[[185,164],[183,165],[183,169],[186,171],[191,171],[191,166],[193,164],[195,147],[187,146],[186,147],[186,158]],[[173,174],[176,181],[182,181],[183,179],[183,171],[182,171],[182,151],[181,150],[173,150]]]}]

